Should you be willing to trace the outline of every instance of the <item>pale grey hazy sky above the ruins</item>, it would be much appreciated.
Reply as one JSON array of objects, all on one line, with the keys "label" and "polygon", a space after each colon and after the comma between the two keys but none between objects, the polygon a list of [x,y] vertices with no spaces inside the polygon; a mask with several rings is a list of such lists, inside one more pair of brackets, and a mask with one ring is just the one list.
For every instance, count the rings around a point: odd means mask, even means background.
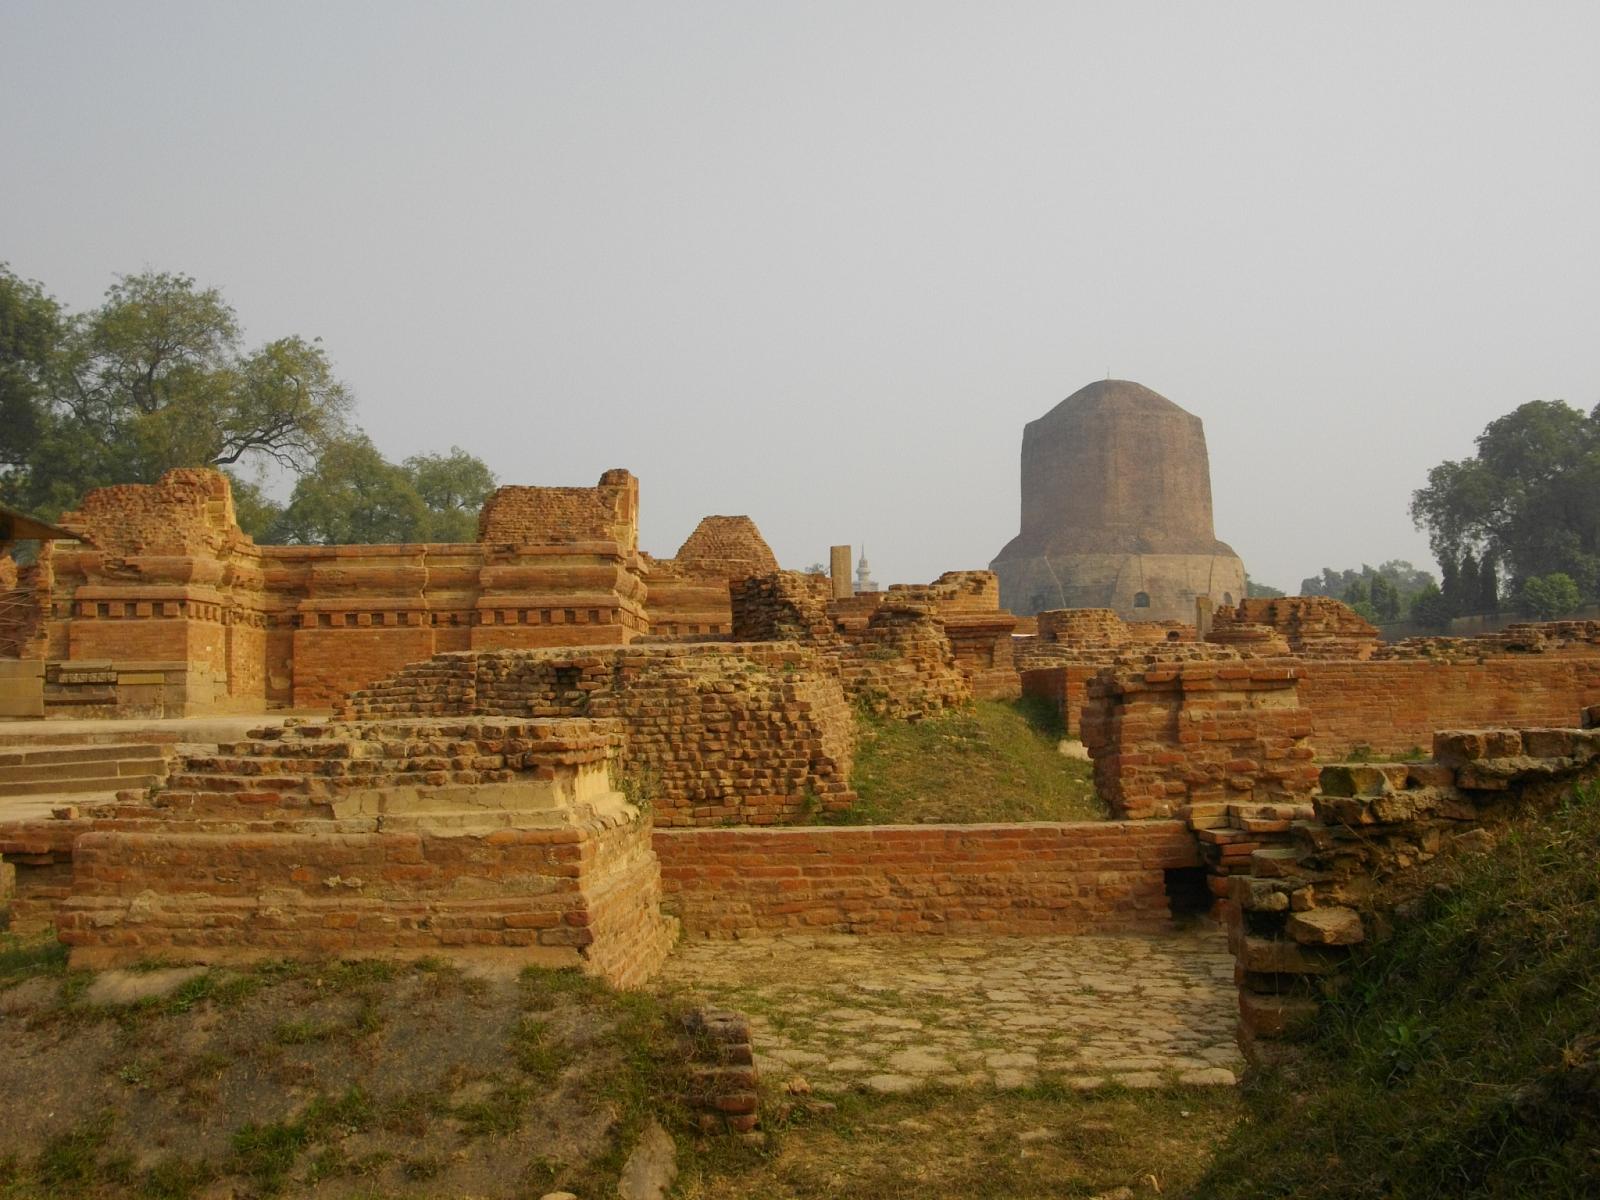
[{"label": "pale grey hazy sky above the ruins", "polygon": [[322,336],[390,458],[642,480],[883,582],[1018,530],[1022,424],[1197,413],[1280,587],[1525,400],[1600,402],[1595,3],[0,0],[0,259]]}]

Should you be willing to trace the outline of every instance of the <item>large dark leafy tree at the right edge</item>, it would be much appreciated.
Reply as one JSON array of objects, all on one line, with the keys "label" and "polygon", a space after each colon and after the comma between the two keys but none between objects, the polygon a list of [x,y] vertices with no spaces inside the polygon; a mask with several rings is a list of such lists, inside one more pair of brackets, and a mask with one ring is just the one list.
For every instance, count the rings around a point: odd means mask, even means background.
[{"label": "large dark leafy tree at the right edge", "polygon": [[1440,566],[1469,550],[1504,566],[1512,592],[1566,574],[1600,589],[1600,406],[1531,400],[1491,421],[1470,459],[1440,462],[1411,496]]}]

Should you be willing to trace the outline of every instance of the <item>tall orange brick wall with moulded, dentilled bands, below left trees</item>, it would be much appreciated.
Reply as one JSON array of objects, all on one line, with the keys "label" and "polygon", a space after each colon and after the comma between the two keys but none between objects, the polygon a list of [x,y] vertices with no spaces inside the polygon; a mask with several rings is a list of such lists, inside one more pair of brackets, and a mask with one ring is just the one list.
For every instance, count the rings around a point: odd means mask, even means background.
[{"label": "tall orange brick wall with moulded, dentilled bands, below left trees", "polygon": [[[501,488],[490,541],[256,546],[227,480],[168,472],[102,488],[62,518],[90,542],[50,544],[42,658],[187,664],[176,710],[318,707],[430,654],[466,648],[622,645],[648,629],[635,550],[637,482]],[[85,715],[118,710],[90,683],[46,690]]]}]

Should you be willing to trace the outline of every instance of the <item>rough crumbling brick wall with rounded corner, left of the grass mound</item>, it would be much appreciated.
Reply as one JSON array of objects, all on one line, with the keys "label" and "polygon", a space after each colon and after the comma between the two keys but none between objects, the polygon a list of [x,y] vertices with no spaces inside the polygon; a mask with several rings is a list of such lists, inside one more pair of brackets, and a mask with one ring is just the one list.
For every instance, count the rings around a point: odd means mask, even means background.
[{"label": "rough crumbling brick wall with rounded corner, left of the grass mound", "polygon": [[344,720],[606,717],[659,826],[779,824],[854,802],[837,674],[792,643],[469,651],[357,691]]}]

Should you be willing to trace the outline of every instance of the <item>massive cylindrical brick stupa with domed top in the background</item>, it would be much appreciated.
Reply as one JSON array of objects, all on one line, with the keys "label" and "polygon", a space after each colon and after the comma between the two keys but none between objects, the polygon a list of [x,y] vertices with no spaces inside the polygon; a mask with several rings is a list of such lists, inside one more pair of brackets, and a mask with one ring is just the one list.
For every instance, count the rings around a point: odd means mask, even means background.
[{"label": "massive cylindrical brick stupa with domed top in the background", "polygon": [[1110,608],[1194,621],[1237,603],[1245,563],[1216,539],[1200,418],[1125,379],[1083,387],[1022,430],[1022,530],[989,565],[1013,613]]}]

